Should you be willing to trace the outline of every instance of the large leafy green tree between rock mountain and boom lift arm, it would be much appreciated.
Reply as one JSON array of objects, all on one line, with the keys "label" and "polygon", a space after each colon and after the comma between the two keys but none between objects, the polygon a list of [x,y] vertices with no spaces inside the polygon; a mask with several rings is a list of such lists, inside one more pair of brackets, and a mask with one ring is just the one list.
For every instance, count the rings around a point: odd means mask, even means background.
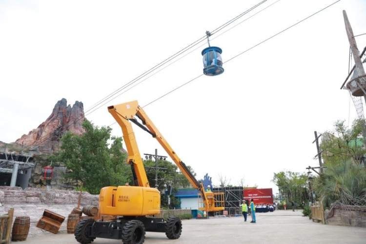
[{"label": "large leafy green tree between rock mountain and boom lift arm", "polygon": [[104,186],[130,182],[131,169],[124,163],[122,138],[111,137],[110,127],[99,128],[89,121],[82,126],[85,133],[80,136],[66,133],[61,138],[61,151],[53,156],[53,160],[67,167],[65,177],[81,181],[92,194],[98,194]]}]

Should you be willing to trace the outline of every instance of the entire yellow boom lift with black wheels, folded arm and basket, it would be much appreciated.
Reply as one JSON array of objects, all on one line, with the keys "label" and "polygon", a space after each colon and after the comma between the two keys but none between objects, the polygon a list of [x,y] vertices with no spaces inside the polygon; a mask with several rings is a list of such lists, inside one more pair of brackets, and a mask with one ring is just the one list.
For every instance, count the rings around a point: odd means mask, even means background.
[{"label": "entire yellow boom lift with black wheels, folded arm and basket", "polygon": [[98,237],[122,239],[124,244],[142,244],[145,231],[165,232],[169,239],[178,239],[181,236],[182,222],[179,218],[170,217],[164,221],[162,218],[154,217],[160,213],[160,191],[149,185],[131,122],[158,140],[189,183],[199,190],[203,202],[200,210],[207,213],[224,210],[224,193],[205,192],[203,184],[195,179],[137,101],[109,106],[108,111],[122,128],[128,153],[127,163],[132,168],[134,186],[103,187],[99,196],[99,211],[102,215],[116,216],[116,219],[81,220],[75,231],[78,242],[87,244]]}]

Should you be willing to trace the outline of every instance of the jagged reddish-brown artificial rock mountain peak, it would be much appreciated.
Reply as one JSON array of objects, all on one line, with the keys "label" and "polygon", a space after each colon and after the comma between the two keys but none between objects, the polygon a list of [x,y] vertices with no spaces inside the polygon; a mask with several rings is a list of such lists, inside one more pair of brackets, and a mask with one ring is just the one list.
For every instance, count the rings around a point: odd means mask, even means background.
[{"label": "jagged reddish-brown artificial rock mountain peak", "polygon": [[70,131],[81,135],[85,132],[82,127],[84,121],[84,108],[82,102],[76,101],[71,107],[66,99],[56,103],[52,114],[41,123],[37,129],[29,131],[28,135],[22,135],[16,143],[26,148],[38,148],[40,152],[54,152],[59,149],[61,136]]}]

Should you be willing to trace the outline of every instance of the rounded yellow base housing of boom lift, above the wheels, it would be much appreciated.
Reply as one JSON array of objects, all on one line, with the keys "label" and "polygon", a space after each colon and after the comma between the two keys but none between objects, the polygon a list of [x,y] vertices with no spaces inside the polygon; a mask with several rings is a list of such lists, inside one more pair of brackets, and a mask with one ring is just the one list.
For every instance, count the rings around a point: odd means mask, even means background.
[{"label": "rounded yellow base housing of boom lift, above the wheels", "polygon": [[160,192],[142,186],[107,186],[99,195],[102,215],[144,216],[160,213]]}]

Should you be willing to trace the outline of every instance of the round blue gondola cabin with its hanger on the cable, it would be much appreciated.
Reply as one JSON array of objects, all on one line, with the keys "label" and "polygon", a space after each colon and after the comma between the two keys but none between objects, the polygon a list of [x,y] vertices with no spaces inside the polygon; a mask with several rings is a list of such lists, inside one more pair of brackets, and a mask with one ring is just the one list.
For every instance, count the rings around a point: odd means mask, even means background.
[{"label": "round blue gondola cabin with its hanger on the cable", "polygon": [[206,32],[208,47],[202,50],[203,56],[203,74],[207,76],[216,76],[224,72],[223,59],[221,53],[223,50],[220,47],[210,46],[208,37],[211,33]]}]

